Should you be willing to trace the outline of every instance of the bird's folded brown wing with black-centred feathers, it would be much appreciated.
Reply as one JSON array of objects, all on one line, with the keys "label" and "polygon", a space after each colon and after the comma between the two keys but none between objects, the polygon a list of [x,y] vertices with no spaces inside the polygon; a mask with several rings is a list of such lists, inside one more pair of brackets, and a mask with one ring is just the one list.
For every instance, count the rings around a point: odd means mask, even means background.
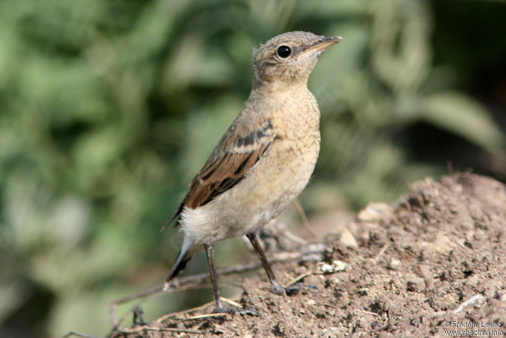
[{"label": "bird's folded brown wing with black-centred feathers", "polygon": [[185,207],[195,209],[231,189],[260,160],[274,140],[274,134],[269,121],[257,125],[260,127],[247,131],[231,126],[191,181],[183,202],[162,230],[179,217]]}]

